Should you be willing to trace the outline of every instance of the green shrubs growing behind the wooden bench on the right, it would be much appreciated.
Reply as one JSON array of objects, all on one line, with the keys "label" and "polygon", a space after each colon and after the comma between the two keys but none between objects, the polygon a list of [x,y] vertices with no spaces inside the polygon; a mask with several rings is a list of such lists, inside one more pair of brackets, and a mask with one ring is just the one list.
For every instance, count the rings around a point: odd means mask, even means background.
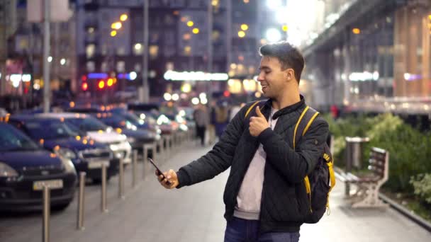
[{"label": "green shrubs growing behind the wooden bench on the right", "polygon": [[431,173],[431,135],[422,134],[405,124],[400,117],[381,114],[376,117],[347,117],[333,120],[326,117],[335,136],[335,165],[345,166],[345,137],[369,137],[362,147],[362,168],[366,168],[372,146],[389,152],[389,180],[385,186],[397,192],[413,193],[410,177]]}]

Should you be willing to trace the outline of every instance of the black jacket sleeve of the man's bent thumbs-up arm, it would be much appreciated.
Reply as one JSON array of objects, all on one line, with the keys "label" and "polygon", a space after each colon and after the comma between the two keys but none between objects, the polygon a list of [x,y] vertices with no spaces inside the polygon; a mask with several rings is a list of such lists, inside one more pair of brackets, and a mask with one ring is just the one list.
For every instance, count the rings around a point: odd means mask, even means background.
[{"label": "black jacket sleeve of the man's bent thumbs-up arm", "polygon": [[[298,183],[313,171],[328,136],[329,126],[322,117],[317,117],[306,134],[301,137],[294,151],[289,144],[272,129],[259,134],[259,142],[267,153],[267,162],[276,167],[290,183]],[[293,137],[292,137],[293,139]]]}]

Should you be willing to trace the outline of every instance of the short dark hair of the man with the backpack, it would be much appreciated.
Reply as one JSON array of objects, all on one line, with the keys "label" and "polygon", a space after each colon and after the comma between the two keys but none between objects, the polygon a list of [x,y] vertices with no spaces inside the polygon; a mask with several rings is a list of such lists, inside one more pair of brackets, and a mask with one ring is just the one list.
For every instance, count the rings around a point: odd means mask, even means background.
[{"label": "short dark hair of the man with the backpack", "polygon": [[301,80],[301,73],[304,69],[304,57],[296,47],[287,41],[262,45],[259,49],[260,55],[264,57],[276,57],[281,64],[281,70],[288,68],[295,71],[296,81]]}]

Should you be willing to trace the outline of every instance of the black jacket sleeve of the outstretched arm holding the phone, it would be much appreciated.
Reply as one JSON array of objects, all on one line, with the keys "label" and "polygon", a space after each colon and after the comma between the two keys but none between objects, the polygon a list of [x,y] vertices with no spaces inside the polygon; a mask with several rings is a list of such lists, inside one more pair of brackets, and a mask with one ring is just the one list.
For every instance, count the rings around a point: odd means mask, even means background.
[{"label": "black jacket sleeve of the outstretched arm holding the phone", "polygon": [[211,179],[230,167],[235,148],[244,129],[245,107],[233,117],[220,137],[220,141],[215,144],[211,151],[196,161],[179,168],[177,171],[179,180],[177,188]]}]

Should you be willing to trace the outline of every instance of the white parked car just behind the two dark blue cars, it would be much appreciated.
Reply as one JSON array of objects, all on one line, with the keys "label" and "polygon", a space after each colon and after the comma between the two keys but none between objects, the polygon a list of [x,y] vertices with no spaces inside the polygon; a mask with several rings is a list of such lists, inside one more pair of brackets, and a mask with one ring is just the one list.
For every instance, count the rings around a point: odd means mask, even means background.
[{"label": "white parked car just behind the two dark blue cars", "polygon": [[132,146],[127,141],[124,134],[118,134],[112,127],[104,125],[95,117],[79,113],[40,113],[36,117],[55,117],[62,119],[71,125],[74,131],[82,136],[89,136],[96,142],[108,144],[113,151],[114,158],[123,159],[124,163],[131,162]]}]

